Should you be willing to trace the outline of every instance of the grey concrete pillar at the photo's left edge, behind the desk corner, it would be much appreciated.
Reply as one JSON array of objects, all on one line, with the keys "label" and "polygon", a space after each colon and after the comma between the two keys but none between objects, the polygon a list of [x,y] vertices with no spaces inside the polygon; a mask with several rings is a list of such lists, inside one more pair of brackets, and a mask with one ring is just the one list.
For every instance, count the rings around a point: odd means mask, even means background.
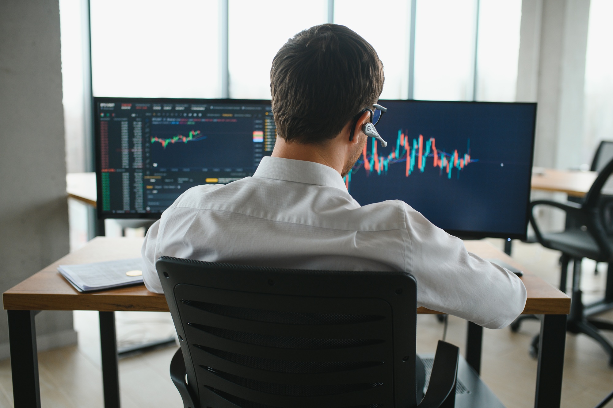
[{"label": "grey concrete pillar at the photo's left edge, behind the desk corner", "polygon": [[[58,0],[0,1],[0,291],[66,255]],[[72,312],[36,317],[39,350],[74,344]],[[9,356],[0,312],[0,358]]]}]

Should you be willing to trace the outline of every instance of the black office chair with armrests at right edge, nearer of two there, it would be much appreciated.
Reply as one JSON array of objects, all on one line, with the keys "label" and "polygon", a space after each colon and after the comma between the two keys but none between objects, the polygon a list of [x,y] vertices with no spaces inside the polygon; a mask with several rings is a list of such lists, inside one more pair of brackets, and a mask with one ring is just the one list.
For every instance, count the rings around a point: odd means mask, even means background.
[{"label": "black office chair with armrests at right edge, nearer of two there", "polygon": [[[601,344],[609,355],[609,365],[613,366],[613,344],[604,337],[598,329],[613,330],[613,323],[593,318],[587,318],[581,292],[581,260],[590,258],[596,262],[609,263],[607,274],[613,275],[613,196],[604,194],[607,180],[613,174],[613,160],[604,166],[590,187],[584,201],[557,202],[537,200],[530,203],[530,224],[535,231],[536,239],[546,248],[562,252],[562,273],[560,274],[560,290],[566,291],[566,273],[569,261],[573,261],[573,285],[571,293],[571,311],[568,315],[567,329],[571,333],[583,333]],[[550,206],[566,212],[566,218],[571,218],[579,228],[565,229],[561,233],[542,233],[535,217],[536,206]],[[611,285],[613,279],[607,280]],[[611,288],[607,288],[607,293]],[[601,308],[604,311],[606,308]],[[519,324],[528,316],[522,316],[511,325],[517,331]],[[538,336],[533,339],[531,353],[538,353]]]}]

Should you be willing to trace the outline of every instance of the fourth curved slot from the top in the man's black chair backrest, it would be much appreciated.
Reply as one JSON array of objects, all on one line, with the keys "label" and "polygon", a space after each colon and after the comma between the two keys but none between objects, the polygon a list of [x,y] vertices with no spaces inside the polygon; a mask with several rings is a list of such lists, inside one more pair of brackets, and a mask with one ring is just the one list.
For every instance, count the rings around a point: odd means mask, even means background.
[{"label": "fourth curved slot from the top in the man's black chair backrest", "polygon": [[317,385],[297,385],[297,384],[278,384],[273,382],[265,382],[260,380],[248,379],[239,377],[238,375],[230,374],[216,370],[212,367],[200,366],[208,372],[217,375],[224,380],[233,382],[241,387],[251,388],[251,390],[260,391],[262,393],[286,395],[286,396],[321,396],[351,393],[354,391],[370,390],[370,388],[381,387],[382,382],[376,383],[356,383],[356,384],[317,384]]}]

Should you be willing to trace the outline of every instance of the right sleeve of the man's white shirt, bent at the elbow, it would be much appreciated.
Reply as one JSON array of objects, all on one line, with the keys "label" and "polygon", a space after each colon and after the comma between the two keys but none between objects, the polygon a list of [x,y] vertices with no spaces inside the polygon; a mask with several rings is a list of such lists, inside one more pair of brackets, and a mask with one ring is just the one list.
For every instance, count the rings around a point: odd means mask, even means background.
[{"label": "right sleeve of the man's white shirt, bent at the elbow", "polygon": [[527,292],[517,275],[466,250],[402,203],[409,245],[408,271],[417,281],[417,304],[490,329],[508,326],[521,314]]}]

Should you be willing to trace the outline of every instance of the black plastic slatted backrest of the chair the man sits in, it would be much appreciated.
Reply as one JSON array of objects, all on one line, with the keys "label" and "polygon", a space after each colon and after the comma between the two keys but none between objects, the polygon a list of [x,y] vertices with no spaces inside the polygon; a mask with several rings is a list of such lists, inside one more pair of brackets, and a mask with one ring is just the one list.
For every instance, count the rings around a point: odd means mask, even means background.
[{"label": "black plastic slatted backrest of the chair the man sits in", "polygon": [[202,408],[416,406],[411,274],[156,268]]}]

